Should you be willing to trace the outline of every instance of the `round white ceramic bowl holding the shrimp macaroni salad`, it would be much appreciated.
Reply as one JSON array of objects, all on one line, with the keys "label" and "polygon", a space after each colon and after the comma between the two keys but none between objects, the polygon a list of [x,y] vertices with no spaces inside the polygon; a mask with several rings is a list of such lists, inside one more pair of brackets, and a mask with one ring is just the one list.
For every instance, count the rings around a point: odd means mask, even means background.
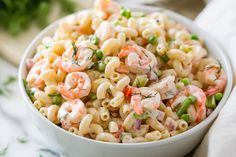
[{"label": "round white ceramic bowl holding the shrimp macaroni salad", "polygon": [[140,10],[145,12],[162,11],[165,12],[170,18],[184,24],[189,28],[192,33],[200,36],[206,44],[209,53],[217,58],[222,64],[228,78],[227,86],[225,89],[224,97],[218,104],[214,112],[204,121],[192,129],[176,135],[174,137],[146,143],[134,143],[134,144],[116,144],[105,143],[100,141],[91,140],[88,138],[73,135],[62,128],[51,123],[45,117],[43,117],[38,110],[33,106],[29,97],[27,96],[22,79],[25,78],[26,71],[26,59],[32,57],[36,46],[41,42],[42,38],[46,35],[52,35],[58,26],[58,21],[44,29],[29,45],[25,54],[21,60],[19,69],[19,84],[21,94],[25,99],[25,102],[29,108],[29,113],[33,122],[39,128],[44,137],[57,149],[65,153],[68,157],[178,157],[183,156],[193,150],[202,140],[206,131],[214,121],[219,111],[224,106],[232,88],[232,69],[230,61],[218,46],[213,42],[213,39],[199,27],[197,27],[192,21],[187,18],[178,15],[174,12],[145,6],[130,6],[133,10]]}]

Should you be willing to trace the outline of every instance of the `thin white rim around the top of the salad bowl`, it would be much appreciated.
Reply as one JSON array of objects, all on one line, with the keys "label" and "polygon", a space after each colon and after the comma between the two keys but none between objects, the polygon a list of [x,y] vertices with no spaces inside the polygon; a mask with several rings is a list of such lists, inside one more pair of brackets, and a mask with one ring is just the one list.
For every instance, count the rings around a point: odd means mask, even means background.
[{"label": "thin white rim around the top of the salad bowl", "polygon": [[[159,8],[159,7],[143,6],[143,5],[126,5],[126,6],[131,8],[131,10],[140,10],[140,11],[144,11],[144,12],[148,12],[148,13],[150,13],[150,12],[164,12],[171,19],[173,19],[179,23],[182,23],[185,26],[188,25],[187,28],[190,29],[191,32],[193,32],[193,30],[194,30],[194,31],[198,32],[196,34],[204,35],[204,41],[207,41],[208,44],[211,45],[211,47],[214,47],[214,49],[217,49],[216,52],[220,55],[222,61],[225,62],[224,70],[227,75],[227,85],[226,85],[226,88],[224,91],[224,96],[223,96],[222,100],[220,101],[220,103],[218,104],[216,109],[210,114],[210,116],[208,116],[205,120],[203,120],[201,123],[197,124],[193,128],[191,128],[181,134],[172,136],[170,138],[162,139],[159,141],[142,142],[142,143],[111,143],[111,142],[97,141],[97,140],[93,140],[90,138],[74,135],[74,134],[64,130],[63,128],[55,125],[51,121],[49,121],[42,114],[40,114],[40,112],[34,107],[33,103],[31,102],[30,98],[28,97],[28,95],[25,91],[22,80],[25,78],[24,71],[25,71],[26,59],[28,58],[29,54],[31,54],[31,55],[33,54],[32,49],[34,50],[36,48],[36,46],[38,45],[37,43],[39,41],[41,41],[42,38],[45,37],[46,34],[48,34],[49,32],[52,32],[52,30],[58,26],[60,20],[64,19],[67,16],[62,17],[61,19],[53,22],[52,24],[47,26],[45,29],[43,29],[32,40],[32,42],[29,44],[29,46],[25,50],[25,52],[21,58],[19,72],[18,72],[18,83],[19,83],[19,87],[20,87],[20,93],[23,96],[25,102],[27,103],[28,108],[31,110],[31,112],[33,114],[37,115],[38,118],[40,118],[42,121],[44,121],[44,123],[47,123],[47,125],[50,126],[51,128],[56,129],[57,131],[59,131],[62,134],[65,134],[65,136],[74,137],[75,140],[82,140],[82,142],[91,142],[93,144],[102,144],[102,145],[106,145],[107,147],[114,146],[114,147],[120,147],[120,148],[121,147],[139,148],[139,147],[159,146],[159,145],[164,145],[164,144],[168,144],[168,143],[172,143],[172,142],[178,142],[180,139],[184,139],[192,134],[197,133],[198,131],[201,130],[201,128],[203,128],[204,126],[207,126],[211,122],[213,122],[213,120],[219,114],[220,110],[223,108],[224,104],[226,103],[227,98],[229,97],[229,95],[231,93],[232,87],[233,87],[233,73],[232,73],[232,67],[231,67],[230,60],[229,60],[228,56],[224,53],[224,50],[219,46],[219,43],[216,44],[216,41],[214,41],[213,37],[211,37],[208,33],[206,33],[204,30],[202,30],[199,26],[197,26],[195,23],[193,23],[193,21],[191,21],[187,17],[184,17],[184,16],[182,16],[178,13],[175,13],[173,11],[170,11],[170,10],[167,10],[164,8]],[[75,12],[73,14],[76,14],[76,13],[77,12]],[[73,14],[70,14],[70,15],[73,15]],[[70,15],[68,15],[68,16],[70,16]],[[212,42],[212,41],[214,41],[214,42]]]}]

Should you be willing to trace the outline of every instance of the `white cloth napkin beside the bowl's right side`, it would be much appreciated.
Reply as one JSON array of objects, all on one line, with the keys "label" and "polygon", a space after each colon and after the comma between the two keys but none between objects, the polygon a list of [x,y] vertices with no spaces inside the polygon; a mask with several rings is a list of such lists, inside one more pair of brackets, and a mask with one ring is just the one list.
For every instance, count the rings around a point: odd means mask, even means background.
[{"label": "white cloth napkin beside the bowl's right side", "polygon": [[[195,22],[218,40],[236,75],[236,0],[212,0]],[[234,77],[235,79],[236,77]],[[194,157],[236,156],[236,87]]]}]

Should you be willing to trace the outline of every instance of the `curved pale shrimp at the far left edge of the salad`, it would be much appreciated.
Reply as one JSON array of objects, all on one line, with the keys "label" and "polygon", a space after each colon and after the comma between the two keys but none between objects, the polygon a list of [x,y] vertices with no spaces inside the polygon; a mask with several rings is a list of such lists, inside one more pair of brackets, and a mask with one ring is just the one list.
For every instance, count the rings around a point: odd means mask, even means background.
[{"label": "curved pale shrimp at the far left edge of the salad", "polygon": [[50,69],[51,65],[47,59],[42,59],[32,65],[27,75],[26,81],[30,87],[43,88],[44,81],[39,77],[41,72],[45,69]]}]

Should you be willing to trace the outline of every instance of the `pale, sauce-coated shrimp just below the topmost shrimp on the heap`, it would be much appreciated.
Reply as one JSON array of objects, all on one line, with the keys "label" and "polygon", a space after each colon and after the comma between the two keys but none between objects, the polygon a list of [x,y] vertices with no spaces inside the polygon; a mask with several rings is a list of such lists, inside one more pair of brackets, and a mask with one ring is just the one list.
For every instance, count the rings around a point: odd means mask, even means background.
[{"label": "pale, sauce-coated shrimp just below the topmost shrimp on the heap", "polygon": [[108,21],[104,21],[99,25],[94,34],[99,38],[100,43],[103,43],[107,39],[114,38],[116,30]]}]

